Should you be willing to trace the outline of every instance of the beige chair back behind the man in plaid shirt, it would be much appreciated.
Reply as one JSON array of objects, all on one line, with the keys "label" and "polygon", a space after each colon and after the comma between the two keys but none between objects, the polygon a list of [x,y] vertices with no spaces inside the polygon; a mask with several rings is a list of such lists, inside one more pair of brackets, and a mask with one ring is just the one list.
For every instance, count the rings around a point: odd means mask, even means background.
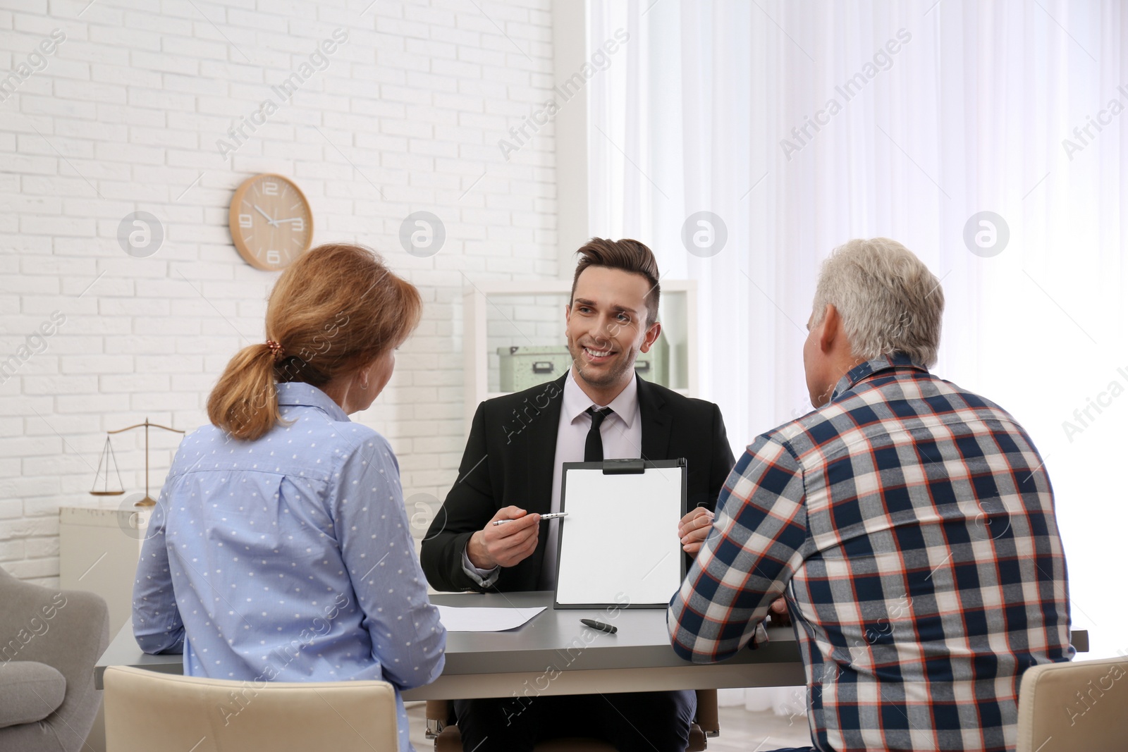
[{"label": "beige chair back behind the man in plaid shirt", "polygon": [[1128,750],[1128,657],[1047,663],[1019,689],[1015,752]]}]

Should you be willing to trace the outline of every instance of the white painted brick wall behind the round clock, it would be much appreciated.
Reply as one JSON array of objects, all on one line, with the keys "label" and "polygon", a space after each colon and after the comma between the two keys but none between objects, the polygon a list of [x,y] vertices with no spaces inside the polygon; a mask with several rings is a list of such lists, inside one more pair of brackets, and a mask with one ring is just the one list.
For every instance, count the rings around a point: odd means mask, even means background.
[{"label": "white painted brick wall behind the round clock", "polygon": [[[461,274],[557,271],[552,129],[508,162],[496,147],[549,97],[549,0],[476,2],[377,0],[362,15],[368,0],[0,0],[0,79],[52,29],[67,35],[0,103],[0,362],[52,311],[67,317],[0,383],[8,570],[56,583],[58,510],[97,504],[105,431],[146,416],[195,428],[239,333],[262,339],[275,275],[245,264],[227,229],[233,189],[257,172],[298,183],[315,244],[372,246],[420,286],[423,322],[354,417],[391,441],[405,496],[446,495],[465,430]],[[279,112],[224,161],[217,139],[335,28],[349,41],[328,68],[289,103],[275,96]],[[428,259],[398,242],[420,210],[447,229]],[[155,256],[117,245],[133,211],[165,224]],[[150,440],[159,485],[178,437]],[[114,439],[129,490],[143,483],[142,441]]]}]

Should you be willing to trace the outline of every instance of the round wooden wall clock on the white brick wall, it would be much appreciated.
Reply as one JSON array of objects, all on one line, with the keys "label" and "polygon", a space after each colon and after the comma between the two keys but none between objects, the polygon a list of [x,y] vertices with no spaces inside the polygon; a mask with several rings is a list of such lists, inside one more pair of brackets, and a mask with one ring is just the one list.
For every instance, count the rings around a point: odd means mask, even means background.
[{"label": "round wooden wall clock on the white brick wall", "polygon": [[231,197],[231,239],[259,269],[282,269],[309,250],[314,214],[292,180],[264,172],[244,180]]}]

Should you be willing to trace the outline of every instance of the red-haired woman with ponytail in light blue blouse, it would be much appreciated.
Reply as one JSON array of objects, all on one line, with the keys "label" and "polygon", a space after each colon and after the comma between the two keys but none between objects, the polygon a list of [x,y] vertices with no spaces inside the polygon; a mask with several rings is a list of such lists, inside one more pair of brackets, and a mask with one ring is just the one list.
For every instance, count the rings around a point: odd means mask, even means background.
[{"label": "red-haired woman with ponytail in light blue blouse", "polygon": [[265,342],[231,359],[212,425],[180,443],[153,510],[133,590],[142,649],[240,682],[402,690],[442,672],[398,462],[347,417],[388,383],[421,311],[418,291],[359,246],[320,246],[282,273]]}]

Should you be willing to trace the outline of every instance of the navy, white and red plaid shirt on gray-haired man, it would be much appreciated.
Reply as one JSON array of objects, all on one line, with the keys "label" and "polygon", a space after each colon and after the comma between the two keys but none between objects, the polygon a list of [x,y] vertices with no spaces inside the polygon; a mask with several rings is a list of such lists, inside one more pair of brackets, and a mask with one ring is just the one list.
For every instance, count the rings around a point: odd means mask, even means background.
[{"label": "navy, white and red plaid shirt on gray-haired man", "polygon": [[1074,654],[1030,437],[901,355],[748,446],[670,603],[675,651],[731,656],[781,595],[828,752],[1013,749],[1022,672]]}]

